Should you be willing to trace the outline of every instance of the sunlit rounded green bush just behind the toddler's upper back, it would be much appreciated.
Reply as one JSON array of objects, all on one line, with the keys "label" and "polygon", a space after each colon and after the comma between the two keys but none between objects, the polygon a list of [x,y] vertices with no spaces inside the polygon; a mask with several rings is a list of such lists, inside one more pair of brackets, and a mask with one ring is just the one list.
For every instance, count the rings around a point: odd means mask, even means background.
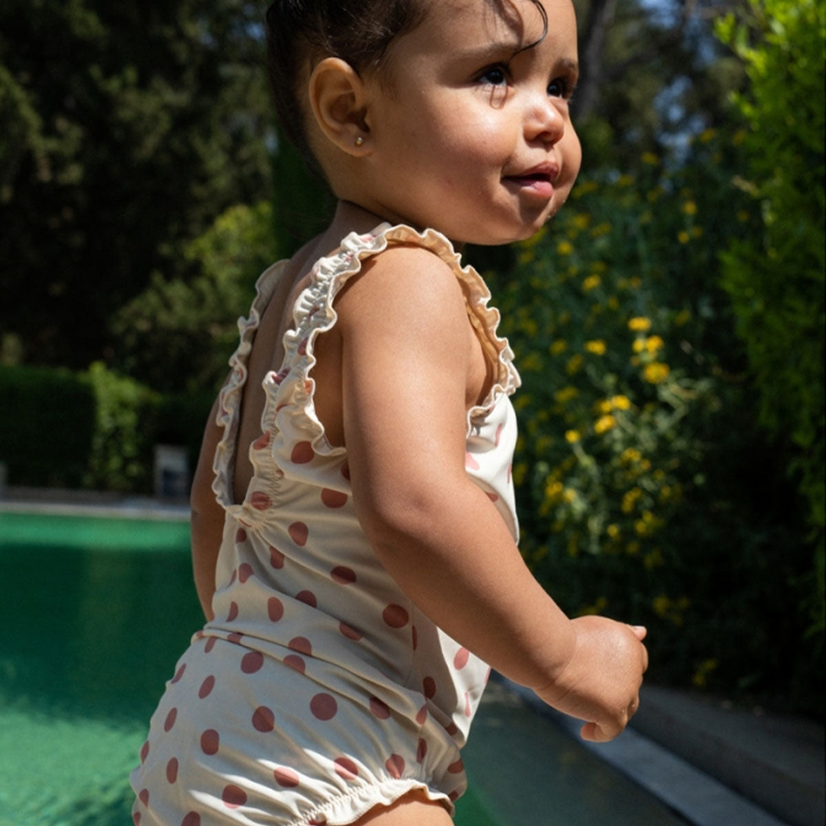
[{"label": "sunlit rounded green bush just behind the toddler's upper back", "polygon": [[124,306],[113,322],[123,372],[158,390],[213,390],[225,378],[254,283],[277,257],[272,207],[230,207],[183,249],[192,278],[164,279]]}]

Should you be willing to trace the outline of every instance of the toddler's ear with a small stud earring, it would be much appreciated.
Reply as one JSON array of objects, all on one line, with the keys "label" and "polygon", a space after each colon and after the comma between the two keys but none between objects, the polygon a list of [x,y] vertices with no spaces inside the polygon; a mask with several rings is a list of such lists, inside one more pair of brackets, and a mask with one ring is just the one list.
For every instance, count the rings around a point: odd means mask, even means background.
[{"label": "toddler's ear with a small stud earring", "polygon": [[368,93],[356,70],[337,57],[325,58],[313,69],[308,91],[321,133],[347,154],[368,152]]}]

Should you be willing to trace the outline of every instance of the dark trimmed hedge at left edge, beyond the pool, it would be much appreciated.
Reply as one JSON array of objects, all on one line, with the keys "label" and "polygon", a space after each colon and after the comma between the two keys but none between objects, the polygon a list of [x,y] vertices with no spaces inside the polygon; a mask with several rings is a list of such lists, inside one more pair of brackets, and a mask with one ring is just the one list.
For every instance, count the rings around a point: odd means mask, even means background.
[{"label": "dark trimmed hedge at left edge, beyond the pool", "polygon": [[91,388],[68,370],[0,366],[0,461],[16,485],[74,487],[94,433]]}]

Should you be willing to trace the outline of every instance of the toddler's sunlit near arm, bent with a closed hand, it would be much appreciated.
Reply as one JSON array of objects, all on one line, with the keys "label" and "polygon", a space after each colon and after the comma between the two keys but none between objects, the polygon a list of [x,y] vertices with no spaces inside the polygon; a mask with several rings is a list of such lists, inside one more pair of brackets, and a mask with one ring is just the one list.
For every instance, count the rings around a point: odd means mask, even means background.
[{"label": "toddler's sunlit near arm, bent with a closed hand", "polygon": [[616,736],[638,702],[642,630],[571,621],[464,469],[477,340],[458,282],[421,249],[372,259],[337,304],[354,503],[378,557],[448,634],[567,714]]}]

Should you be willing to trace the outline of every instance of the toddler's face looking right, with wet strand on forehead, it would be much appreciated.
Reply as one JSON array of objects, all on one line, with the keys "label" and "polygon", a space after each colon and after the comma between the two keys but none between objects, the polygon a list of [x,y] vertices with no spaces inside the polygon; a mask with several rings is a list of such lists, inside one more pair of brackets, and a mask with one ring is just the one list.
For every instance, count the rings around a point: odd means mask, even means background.
[{"label": "toddler's face looking right, with wet strand on forehead", "polygon": [[439,0],[392,45],[389,82],[368,80],[373,211],[502,244],[563,205],[582,158],[568,113],[577,24],[571,0],[543,5],[542,40],[529,0],[514,0],[507,20],[485,0]]}]

